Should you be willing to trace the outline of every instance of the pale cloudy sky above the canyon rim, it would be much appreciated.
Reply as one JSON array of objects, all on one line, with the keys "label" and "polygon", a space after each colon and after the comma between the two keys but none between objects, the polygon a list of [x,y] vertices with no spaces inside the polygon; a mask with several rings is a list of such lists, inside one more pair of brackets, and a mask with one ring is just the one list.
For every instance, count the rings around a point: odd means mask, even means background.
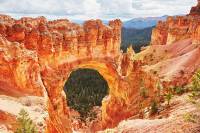
[{"label": "pale cloudy sky above the canyon rim", "polygon": [[0,13],[15,18],[128,20],[187,14],[196,3],[196,0],[0,0]]}]

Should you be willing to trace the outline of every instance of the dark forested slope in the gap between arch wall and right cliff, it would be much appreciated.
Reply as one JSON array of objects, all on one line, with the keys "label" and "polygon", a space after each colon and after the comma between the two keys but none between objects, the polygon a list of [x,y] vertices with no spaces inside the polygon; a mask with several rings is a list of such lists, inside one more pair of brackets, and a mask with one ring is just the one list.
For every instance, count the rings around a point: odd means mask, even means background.
[{"label": "dark forested slope in the gap between arch wall and right cliff", "polygon": [[126,49],[132,46],[136,53],[140,52],[141,47],[149,45],[153,28],[134,29],[123,27],[121,49],[126,52]]}]

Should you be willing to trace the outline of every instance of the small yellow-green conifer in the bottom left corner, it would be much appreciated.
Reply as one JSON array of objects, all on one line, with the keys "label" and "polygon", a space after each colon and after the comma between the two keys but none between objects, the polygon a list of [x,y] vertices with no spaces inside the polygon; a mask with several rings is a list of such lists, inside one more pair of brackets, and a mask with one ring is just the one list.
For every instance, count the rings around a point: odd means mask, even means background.
[{"label": "small yellow-green conifer in the bottom left corner", "polygon": [[15,133],[38,133],[35,124],[29,118],[28,113],[22,109],[17,118],[18,128]]}]

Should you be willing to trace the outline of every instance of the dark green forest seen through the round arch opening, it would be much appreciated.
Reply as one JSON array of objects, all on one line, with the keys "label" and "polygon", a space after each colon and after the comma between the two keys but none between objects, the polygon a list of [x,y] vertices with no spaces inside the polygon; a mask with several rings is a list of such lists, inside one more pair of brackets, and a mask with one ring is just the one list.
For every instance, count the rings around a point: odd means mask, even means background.
[{"label": "dark green forest seen through the round arch opening", "polygon": [[96,70],[78,69],[70,74],[64,91],[68,105],[85,121],[94,106],[101,106],[102,99],[108,94],[108,84]]}]

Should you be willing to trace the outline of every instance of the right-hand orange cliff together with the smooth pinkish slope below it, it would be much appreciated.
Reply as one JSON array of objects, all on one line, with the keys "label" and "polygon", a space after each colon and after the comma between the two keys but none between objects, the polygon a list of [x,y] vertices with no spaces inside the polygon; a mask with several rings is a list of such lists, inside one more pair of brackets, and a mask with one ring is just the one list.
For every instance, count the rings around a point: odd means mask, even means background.
[{"label": "right-hand orange cliff together with the smooth pinkish slope below it", "polygon": [[200,1],[186,16],[168,17],[153,29],[151,45],[134,58],[166,86],[184,86],[200,67]]}]

